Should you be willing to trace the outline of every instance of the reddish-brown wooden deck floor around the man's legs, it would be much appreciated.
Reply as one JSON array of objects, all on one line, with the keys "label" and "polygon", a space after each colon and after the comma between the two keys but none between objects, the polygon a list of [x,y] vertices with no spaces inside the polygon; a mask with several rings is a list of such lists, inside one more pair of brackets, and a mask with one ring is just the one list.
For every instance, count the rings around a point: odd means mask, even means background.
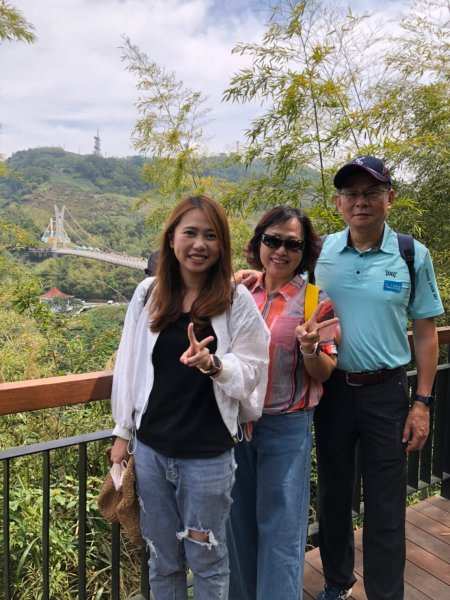
[{"label": "reddish-brown wooden deck floor around the man's legs", "polygon": [[[354,600],[367,600],[362,582],[362,531],[355,533]],[[433,496],[406,511],[405,600],[450,600],[450,500]],[[319,549],[306,554],[304,598],[323,588]]]}]

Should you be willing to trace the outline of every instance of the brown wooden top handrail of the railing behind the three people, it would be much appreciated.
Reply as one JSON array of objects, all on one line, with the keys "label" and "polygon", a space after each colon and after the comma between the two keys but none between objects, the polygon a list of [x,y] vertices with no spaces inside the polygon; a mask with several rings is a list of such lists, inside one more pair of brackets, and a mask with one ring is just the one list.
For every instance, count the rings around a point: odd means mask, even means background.
[{"label": "brown wooden top handrail of the railing behind the three people", "polygon": [[[438,327],[438,337],[440,346],[450,344],[450,327]],[[104,400],[111,384],[111,371],[0,383],[0,416]]]}]

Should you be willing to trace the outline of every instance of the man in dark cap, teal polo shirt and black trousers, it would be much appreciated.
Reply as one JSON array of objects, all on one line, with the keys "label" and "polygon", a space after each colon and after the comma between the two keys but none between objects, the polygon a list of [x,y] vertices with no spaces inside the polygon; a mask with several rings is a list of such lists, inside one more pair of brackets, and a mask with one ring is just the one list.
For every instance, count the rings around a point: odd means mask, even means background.
[{"label": "man in dark cap, teal polo shirt and black trousers", "polygon": [[[340,318],[338,368],[316,409],[319,544],[326,585],[318,600],[348,598],[356,581],[352,492],[359,441],[364,485],[364,585],[368,600],[403,600],[406,453],[424,445],[443,313],[430,254],[414,240],[415,294],[397,234],[385,220],[394,200],[375,157],[334,178],[347,228],[327,236],[316,267]],[[413,321],[417,394],[407,396],[408,319]]]}]

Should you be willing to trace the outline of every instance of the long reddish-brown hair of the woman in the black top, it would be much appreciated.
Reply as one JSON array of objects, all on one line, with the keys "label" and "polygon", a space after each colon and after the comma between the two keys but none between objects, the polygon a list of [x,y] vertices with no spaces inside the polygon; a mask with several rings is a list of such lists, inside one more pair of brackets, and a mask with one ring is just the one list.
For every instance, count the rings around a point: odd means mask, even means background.
[{"label": "long reddish-brown hair of the woman in the black top", "polygon": [[232,297],[231,243],[224,209],[208,196],[188,196],[179,202],[168,218],[161,240],[156,286],[150,303],[150,327],[161,331],[176,321],[183,306],[184,283],[180,265],[171,247],[175,228],[184,215],[198,208],[205,213],[219,242],[220,255],[208,271],[204,288],[191,307],[191,320],[199,331],[211,317],[227,310]]}]

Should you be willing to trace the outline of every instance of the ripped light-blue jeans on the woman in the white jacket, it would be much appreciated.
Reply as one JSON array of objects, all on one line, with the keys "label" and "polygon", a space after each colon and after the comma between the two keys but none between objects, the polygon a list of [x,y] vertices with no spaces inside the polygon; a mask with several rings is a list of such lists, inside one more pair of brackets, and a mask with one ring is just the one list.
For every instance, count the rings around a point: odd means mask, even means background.
[{"label": "ripped light-blue jeans on the woman in the white jacket", "polygon": [[[150,551],[155,600],[186,600],[186,569],[196,600],[227,600],[226,521],[231,506],[233,450],[214,458],[167,458],[136,440],[141,531]],[[206,533],[205,541],[191,537]]]}]

